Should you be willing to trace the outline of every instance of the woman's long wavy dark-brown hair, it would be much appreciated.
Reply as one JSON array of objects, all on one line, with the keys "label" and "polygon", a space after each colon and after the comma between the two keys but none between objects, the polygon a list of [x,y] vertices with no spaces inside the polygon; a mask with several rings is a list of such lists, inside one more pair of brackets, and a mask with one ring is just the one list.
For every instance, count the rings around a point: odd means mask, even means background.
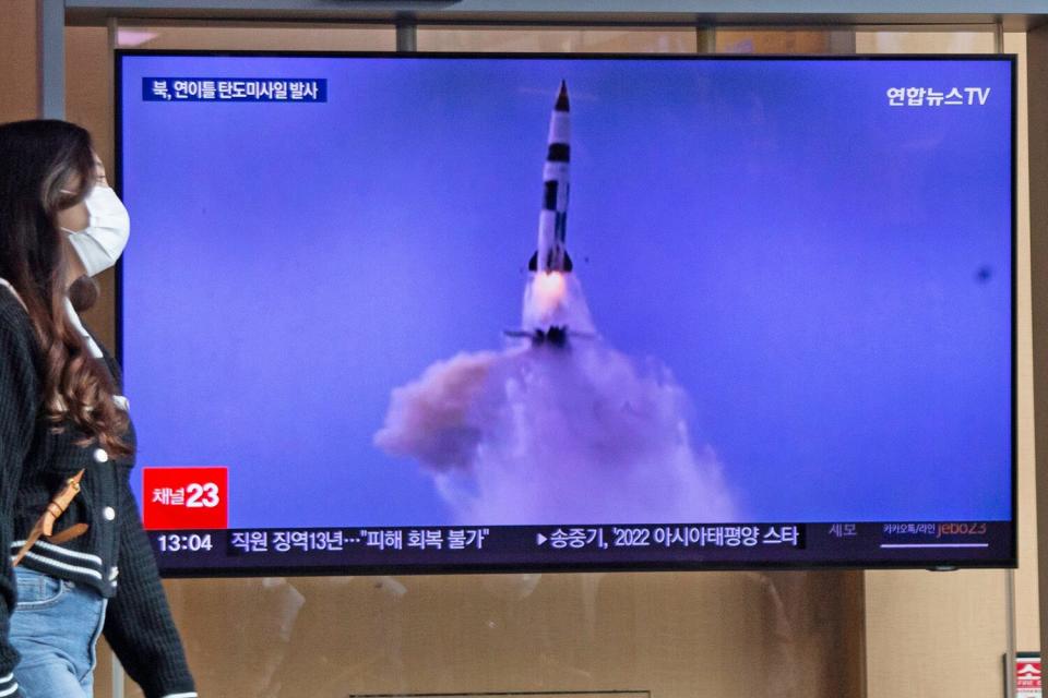
[{"label": "woman's long wavy dark-brown hair", "polygon": [[[66,314],[68,255],[58,214],[84,200],[95,181],[91,135],[64,121],[0,125],[0,278],[22,297],[41,352],[43,417],[98,438],[112,455],[130,448],[127,414],[112,400],[108,372]],[[63,191],[64,190],[64,191]],[[69,193],[72,192],[72,193]]]}]

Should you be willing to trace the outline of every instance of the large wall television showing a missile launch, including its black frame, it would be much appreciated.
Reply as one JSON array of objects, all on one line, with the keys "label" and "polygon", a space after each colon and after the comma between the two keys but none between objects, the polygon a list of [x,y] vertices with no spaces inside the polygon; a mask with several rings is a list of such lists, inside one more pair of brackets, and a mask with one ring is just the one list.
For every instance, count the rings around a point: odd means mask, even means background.
[{"label": "large wall television showing a missile launch, including its black frame", "polygon": [[1014,62],[121,51],[168,575],[1014,564]]}]

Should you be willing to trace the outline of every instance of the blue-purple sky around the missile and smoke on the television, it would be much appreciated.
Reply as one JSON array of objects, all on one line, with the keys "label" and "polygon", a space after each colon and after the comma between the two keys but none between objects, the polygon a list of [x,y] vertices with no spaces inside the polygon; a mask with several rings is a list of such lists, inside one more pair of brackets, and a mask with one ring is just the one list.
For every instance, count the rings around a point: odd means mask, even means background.
[{"label": "blue-purple sky around the missile and smoke on the television", "polygon": [[[122,61],[139,465],[228,466],[230,526],[448,520],[371,438],[520,322],[561,79],[596,326],[670,368],[746,518],[1010,518],[1009,63]],[[329,101],[144,103],[146,75]],[[991,96],[890,107],[907,86]]]}]

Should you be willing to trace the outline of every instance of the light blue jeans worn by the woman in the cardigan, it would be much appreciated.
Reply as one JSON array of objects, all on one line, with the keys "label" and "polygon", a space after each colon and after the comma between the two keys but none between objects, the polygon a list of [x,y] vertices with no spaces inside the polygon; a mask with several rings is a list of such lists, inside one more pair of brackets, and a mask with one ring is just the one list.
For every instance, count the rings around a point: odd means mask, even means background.
[{"label": "light blue jeans worn by the woman in the cardigan", "polygon": [[14,678],[26,698],[91,698],[95,642],[106,600],[90,587],[14,568],[19,603],[11,645],[22,655]]}]

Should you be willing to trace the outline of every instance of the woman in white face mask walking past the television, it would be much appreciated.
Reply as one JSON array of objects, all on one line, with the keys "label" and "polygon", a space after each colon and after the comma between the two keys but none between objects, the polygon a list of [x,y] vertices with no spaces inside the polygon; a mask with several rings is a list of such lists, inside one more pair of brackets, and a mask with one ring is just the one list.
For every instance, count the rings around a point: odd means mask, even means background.
[{"label": "woman in white face mask walking past the television", "polygon": [[0,570],[0,698],[91,696],[99,633],[147,698],[196,696],[129,486],[119,371],[67,296],[129,228],[86,131],[0,125],[0,546],[17,556]]}]

